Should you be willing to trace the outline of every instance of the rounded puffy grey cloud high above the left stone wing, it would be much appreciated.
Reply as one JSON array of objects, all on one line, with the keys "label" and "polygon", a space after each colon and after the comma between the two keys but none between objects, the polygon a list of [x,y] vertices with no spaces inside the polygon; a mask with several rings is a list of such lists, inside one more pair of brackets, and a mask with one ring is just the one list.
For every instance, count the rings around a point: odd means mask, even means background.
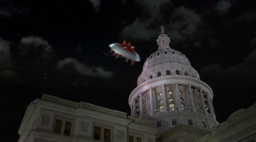
[{"label": "rounded puffy grey cloud high above the left stone wing", "polygon": [[41,58],[51,57],[54,49],[48,41],[37,36],[26,36],[20,40],[21,55],[33,54]]}]

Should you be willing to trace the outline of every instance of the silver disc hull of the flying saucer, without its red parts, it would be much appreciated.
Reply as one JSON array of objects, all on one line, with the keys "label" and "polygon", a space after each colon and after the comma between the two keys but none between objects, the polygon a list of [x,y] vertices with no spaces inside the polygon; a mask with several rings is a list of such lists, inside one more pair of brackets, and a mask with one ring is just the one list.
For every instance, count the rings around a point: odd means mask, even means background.
[{"label": "silver disc hull of the flying saucer, without its red parts", "polygon": [[136,61],[136,62],[141,61],[140,56],[136,52],[133,53],[131,51],[128,51],[128,50],[124,49],[123,47],[120,46],[119,43],[110,44],[109,47],[113,51],[115,51],[116,53],[118,53],[119,55],[121,55],[125,58],[128,58],[128,59]]}]

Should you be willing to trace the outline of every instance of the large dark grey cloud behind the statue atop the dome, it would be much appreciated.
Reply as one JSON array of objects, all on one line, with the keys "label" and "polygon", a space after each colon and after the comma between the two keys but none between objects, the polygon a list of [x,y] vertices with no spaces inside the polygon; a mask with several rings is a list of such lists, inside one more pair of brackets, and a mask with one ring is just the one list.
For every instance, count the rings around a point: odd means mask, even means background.
[{"label": "large dark grey cloud behind the statue atop the dome", "polygon": [[151,13],[151,16],[143,15],[136,18],[131,25],[123,28],[121,36],[124,39],[149,41],[160,34],[159,26],[163,25],[165,33],[170,36],[174,44],[190,38],[191,35],[199,30],[198,27],[202,22],[202,18],[193,10],[184,6],[174,9],[171,4],[169,4],[168,8],[172,9],[172,12],[170,10],[160,12],[161,6],[166,5],[167,2],[169,1],[154,1],[151,3],[142,1],[141,3],[147,7],[147,12]]}]

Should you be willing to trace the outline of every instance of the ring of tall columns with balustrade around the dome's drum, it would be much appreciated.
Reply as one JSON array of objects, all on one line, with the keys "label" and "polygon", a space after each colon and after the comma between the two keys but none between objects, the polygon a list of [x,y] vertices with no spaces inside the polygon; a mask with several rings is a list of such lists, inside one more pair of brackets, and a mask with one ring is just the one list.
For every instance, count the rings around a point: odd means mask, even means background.
[{"label": "ring of tall columns with balustrade around the dome's drum", "polygon": [[[160,108],[160,109],[155,109],[156,106],[158,105],[158,100],[156,99],[156,95],[157,94],[153,94],[152,93],[152,88],[153,87],[150,87],[149,88],[149,100],[148,100],[148,96],[146,96],[146,100],[145,100],[145,103],[146,103],[146,112],[143,112],[143,100],[142,100],[142,95],[143,95],[143,92],[141,92],[138,97],[139,97],[139,114],[136,114],[136,98],[135,97],[133,99],[133,102],[132,102],[132,105],[131,105],[131,115],[133,117],[140,117],[140,118],[145,118],[145,115],[146,117],[147,116],[152,116],[156,113],[165,113],[165,112],[168,112],[168,111],[190,111],[190,112],[196,112],[196,113],[203,113],[205,115],[211,115],[214,119],[215,119],[215,112],[214,112],[214,109],[213,109],[213,106],[212,106],[212,102],[210,100],[210,96],[209,96],[209,93],[205,93],[203,94],[203,90],[202,88],[199,88],[199,93],[200,93],[200,104],[201,104],[201,107],[202,109],[199,109],[198,108],[198,105],[196,105],[196,102],[195,102],[195,96],[194,96],[194,93],[193,93],[193,90],[192,90],[192,86],[191,84],[188,84],[186,87],[188,87],[188,92],[189,94],[187,94],[187,91],[185,91],[185,106],[182,106],[181,105],[181,101],[180,101],[180,94],[179,94],[179,83],[175,83],[175,87],[174,87],[174,103],[175,103],[175,107],[169,107],[169,104],[168,104],[168,98],[167,98],[167,92],[166,92],[166,85],[165,84],[162,84],[161,85],[162,87],[162,99],[163,99],[163,108]],[[148,90],[146,90],[148,91]],[[188,96],[189,95],[189,96]],[[206,95],[207,97],[207,102],[208,102],[208,107],[209,107],[209,113],[207,112],[206,110],[206,105],[205,105],[205,101],[204,101],[204,95]],[[190,101],[191,101],[191,105],[190,105],[190,102],[189,102],[189,98],[190,97]],[[155,103],[155,108],[153,109],[153,100],[154,100],[154,103]],[[149,101],[149,102],[148,102]],[[148,106],[149,105],[149,106]]]}]

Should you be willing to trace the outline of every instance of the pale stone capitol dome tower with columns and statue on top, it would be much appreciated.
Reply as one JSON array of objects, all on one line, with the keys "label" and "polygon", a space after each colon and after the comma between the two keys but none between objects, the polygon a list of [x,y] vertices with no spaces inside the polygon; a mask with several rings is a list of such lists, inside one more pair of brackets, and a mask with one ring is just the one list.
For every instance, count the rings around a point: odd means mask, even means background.
[{"label": "pale stone capitol dome tower with columns and statue on top", "polygon": [[158,49],[146,59],[129,96],[132,116],[154,121],[157,136],[176,124],[209,131],[219,124],[210,86],[184,54],[170,48],[163,26],[156,41]]}]

